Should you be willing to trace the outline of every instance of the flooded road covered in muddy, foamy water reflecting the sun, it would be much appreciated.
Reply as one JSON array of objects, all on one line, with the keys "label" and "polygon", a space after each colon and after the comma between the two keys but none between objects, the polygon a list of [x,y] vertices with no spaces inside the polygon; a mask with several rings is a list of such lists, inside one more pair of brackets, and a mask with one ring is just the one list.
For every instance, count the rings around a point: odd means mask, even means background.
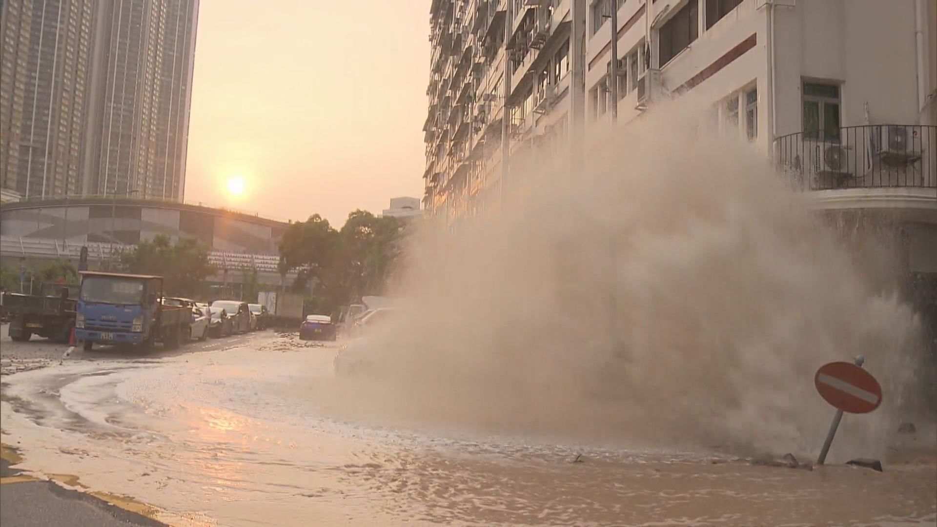
[{"label": "flooded road covered in muddy, foamy water reflecting the sun", "polygon": [[[937,457],[885,473],[594,448],[352,419],[331,345],[108,355],[4,376],[23,466],[176,525],[933,525]],[[366,401],[365,401],[366,402]],[[362,401],[356,401],[361,404]]]}]

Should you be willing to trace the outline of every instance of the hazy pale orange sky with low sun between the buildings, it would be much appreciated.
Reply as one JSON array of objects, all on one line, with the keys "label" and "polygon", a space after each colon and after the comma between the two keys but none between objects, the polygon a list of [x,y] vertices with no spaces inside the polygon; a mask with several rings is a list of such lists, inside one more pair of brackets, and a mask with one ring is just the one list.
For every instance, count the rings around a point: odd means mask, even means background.
[{"label": "hazy pale orange sky with low sun between the buildings", "polygon": [[422,198],[428,20],[429,0],[201,0],[186,202],[341,226]]}]

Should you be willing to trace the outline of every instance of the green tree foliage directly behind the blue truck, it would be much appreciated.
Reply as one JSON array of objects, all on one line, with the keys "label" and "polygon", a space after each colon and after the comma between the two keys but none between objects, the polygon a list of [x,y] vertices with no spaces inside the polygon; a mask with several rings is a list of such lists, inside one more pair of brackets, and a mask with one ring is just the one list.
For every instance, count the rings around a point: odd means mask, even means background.
[{"label": "green tree foliage directly behind the blue truck", "polygon": [[138,275],[163,277],[166,294],[196,297],[204,293],[205,279],[215,274],[208,261],[208,248],[194,238],[181,238],[175,244],[157,234],[121,255],[127,271]]}]

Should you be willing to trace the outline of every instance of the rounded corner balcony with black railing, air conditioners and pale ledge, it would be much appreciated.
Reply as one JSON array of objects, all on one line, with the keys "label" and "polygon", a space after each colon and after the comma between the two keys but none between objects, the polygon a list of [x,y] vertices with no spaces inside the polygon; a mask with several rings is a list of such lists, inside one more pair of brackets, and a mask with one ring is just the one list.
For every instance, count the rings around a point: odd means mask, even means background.
[{"label": "rounded corner balcony with black railing, air conditioners and pale ledge", "polygon": [[778,138],[775,159],[825,210],[883,209],[937,222],[937,127],[867,125]]}]

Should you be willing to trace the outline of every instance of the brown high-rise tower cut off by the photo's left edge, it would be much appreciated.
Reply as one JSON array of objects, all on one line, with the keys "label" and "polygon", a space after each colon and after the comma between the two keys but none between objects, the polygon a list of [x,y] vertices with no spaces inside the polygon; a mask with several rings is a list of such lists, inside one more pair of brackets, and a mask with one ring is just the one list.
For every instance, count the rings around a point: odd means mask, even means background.
[{"label": "brown high-rise tower cut off by the photo's left edge", "polygon": [[81,192],[96,3],[0,4],[0,188]]}]

